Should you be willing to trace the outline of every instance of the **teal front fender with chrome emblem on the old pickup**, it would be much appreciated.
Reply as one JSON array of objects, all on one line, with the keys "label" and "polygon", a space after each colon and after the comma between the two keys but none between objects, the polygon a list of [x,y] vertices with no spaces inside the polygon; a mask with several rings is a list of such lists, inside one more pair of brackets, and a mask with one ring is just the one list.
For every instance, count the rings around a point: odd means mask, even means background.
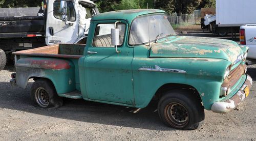
[{"label": "teal front fender with chrome emblem on the old pickup", "polygon": [[[156,69],[155,65],[160,67],[160,70]],[[195,88],[204,107],[209,110],[214,102],[219,101],[223,76],[229,65],[229,61],[222,59],[135,58],[133,71],[136,107],[147,106],[164,84],[176,83]],[[172,69],[183,70],[185,73]]]}]

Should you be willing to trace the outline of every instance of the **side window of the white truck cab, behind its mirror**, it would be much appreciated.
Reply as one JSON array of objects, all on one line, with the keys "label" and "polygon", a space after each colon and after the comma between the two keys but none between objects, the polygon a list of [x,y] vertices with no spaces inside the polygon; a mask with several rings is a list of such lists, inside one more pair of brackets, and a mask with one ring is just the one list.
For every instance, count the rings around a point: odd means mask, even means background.
[{"label": "side window of the white truck cab, behind its mirror", "polygon": [[[60,1],[54,2],[54,11],[53,15],[57,19],[61,19],[62,15],[60,13]],[[76,20],[76,12],[74,5],[71,1],[67,1],[67,17],[68,21],[75,21]]]}]

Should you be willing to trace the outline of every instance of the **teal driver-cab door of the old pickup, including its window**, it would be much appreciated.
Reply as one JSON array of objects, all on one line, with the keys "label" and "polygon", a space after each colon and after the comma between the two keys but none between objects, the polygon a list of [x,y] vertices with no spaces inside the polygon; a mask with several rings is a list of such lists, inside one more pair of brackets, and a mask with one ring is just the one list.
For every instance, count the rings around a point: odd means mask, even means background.
[{"label": "teal driver-cab door of the old pickup, including its window", "polygon": [[106,103],[135,105],[132,74],[134,49],[127,47],[125,38],[128,24],[118,23],[121,44],[118,50],[121,52],[117,53],[111,45],[114,22],[94,23],[96,29],[89,31],[94,37],[89,36],[90,45],[87,46],[87,55],[84,58],[87,96]]}]

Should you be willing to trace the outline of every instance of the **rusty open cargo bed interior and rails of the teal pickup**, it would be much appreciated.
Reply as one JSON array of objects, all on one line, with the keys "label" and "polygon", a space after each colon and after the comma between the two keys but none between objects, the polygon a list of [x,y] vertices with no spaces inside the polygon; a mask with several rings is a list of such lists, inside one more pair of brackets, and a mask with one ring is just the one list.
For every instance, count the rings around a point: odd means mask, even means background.
[{"label": "rusty open cargo bed interior and rails of the teal pickup", "polygon": [[34,57],[53,57],[79,59],[83,56],[83,50],[86,44],[56,44],[35,49],[16,51],[14,55],[25,55]]}]

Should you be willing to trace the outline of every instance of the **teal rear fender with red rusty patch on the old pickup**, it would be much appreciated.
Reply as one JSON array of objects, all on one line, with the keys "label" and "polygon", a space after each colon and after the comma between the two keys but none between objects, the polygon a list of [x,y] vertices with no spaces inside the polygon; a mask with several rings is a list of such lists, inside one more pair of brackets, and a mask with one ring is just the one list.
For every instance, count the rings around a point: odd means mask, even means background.
[{"label": "teal rear fender with red rusty patch on the old pickup", "polygon": [[22,58],[16,62],[16,84],[26,89],[30,78],[47,78],[57,94],[75,90],[74,65],[71,61],[54,58]]}]

